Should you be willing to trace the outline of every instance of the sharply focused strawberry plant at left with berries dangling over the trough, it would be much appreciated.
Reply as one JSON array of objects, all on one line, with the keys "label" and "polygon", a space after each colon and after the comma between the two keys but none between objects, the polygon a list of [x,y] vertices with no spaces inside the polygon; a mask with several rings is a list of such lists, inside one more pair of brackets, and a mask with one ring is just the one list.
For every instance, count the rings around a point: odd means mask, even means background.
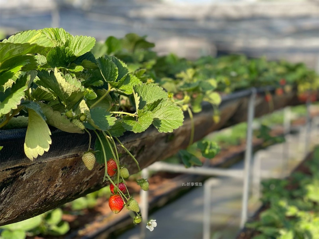
[{"label": "sharply focused strawberry plant at left with berries dangling over the trough", "polygon": [[[30,160],[49,150],[49,126],[68,133],[86,132],[85,166],[92,170],[95,160],[104,163],[103,181],[110,181],[119,192],[117,204],[120,197],[124,205],[130,195],[127,198],[115,184],[120,181],[115,142],[138,166],[119,137],[126,131],[141,133],[151,125],[159,132],[172,132],[182,125],[183,113],[163,88],[143,83],[115,56],[95,58],[90,52],[94,45],[94,38],[72,36],[62,28],[25,31],[0,42],[0,127],[21,120],[20,116],[25,119],[24,151]],[[125,111],[125,104],[122,107],[122,98],[131,102],[130,111]],[[95,151],[91,133],[97,136]]]}]

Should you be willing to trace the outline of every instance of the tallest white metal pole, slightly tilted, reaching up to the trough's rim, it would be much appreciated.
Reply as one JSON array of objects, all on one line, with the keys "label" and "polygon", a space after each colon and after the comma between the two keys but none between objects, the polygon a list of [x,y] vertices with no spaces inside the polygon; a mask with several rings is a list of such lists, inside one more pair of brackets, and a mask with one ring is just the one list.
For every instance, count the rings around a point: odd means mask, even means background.
[{"label": "tallest white metal pole, slightly tilted, reaching up to the trough's rim", "polygon": [[242,195],[242,208],[241,208],[241,223],[240,227],[243,228],[247,220],[248,214],[248,196],[249,196],[249,177],[250,177],[250,162],[252,155],[252,140],[253,140],[253,120],[255,115],[255,99],[256,89],[251,89],[251,95],[248,104],[247,116],[247,135],[246,135],[246,152],[245,152],[245,168],[244,168],[244,185]]}]

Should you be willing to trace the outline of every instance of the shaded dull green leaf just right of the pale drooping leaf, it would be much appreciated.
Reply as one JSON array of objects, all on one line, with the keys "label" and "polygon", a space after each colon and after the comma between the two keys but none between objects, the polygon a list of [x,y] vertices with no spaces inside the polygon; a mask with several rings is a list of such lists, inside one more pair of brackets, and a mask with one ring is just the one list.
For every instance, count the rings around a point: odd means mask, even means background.
[{"label": "shaded dull green leaf just right of the pale drooping leaf", "polygon": [[59,111],[54,111],[52,107],[42,102],[39,102],[43,114],[47,118],[46,122],[48,125],[54,126],[62,131],[69,133],[82,134],[83,132],[74,124],[70,122],[64,115],[61,115]]}]

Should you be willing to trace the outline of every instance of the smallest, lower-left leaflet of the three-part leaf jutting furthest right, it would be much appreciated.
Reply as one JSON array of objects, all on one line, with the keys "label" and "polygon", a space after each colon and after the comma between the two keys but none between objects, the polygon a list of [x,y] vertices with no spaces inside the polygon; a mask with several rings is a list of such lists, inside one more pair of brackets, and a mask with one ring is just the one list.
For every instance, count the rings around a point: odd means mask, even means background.
[{"label": "smallest, lower-left leaflet of the three-part leaf jutting furthest right", "polygon": [[136,120],[133,116],[123,116],[122,125],[126,130],[134,133],[141,133],[145,131],[153,122],[153,113],[147,110],[140,110]]}]

